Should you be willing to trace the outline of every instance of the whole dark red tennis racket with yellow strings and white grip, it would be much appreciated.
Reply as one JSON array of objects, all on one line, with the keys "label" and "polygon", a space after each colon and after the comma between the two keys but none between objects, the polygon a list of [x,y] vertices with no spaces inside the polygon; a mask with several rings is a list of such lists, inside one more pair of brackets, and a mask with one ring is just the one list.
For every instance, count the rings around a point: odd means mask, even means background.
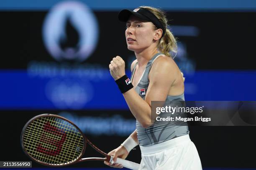
[{"label": "whole dark red tennis racket with yellow strings and white grip", "polygon": [[[73,122],[59,115],[33,117],[26,123],[20,138],[26,155],[43,165],[60,167],[89,160],[113,163],[113,156],[93,145]],[[105,158],[81,158],[87,143]],[[139,168],[139,164],[120,158],[116,163],[132,170]]]}]

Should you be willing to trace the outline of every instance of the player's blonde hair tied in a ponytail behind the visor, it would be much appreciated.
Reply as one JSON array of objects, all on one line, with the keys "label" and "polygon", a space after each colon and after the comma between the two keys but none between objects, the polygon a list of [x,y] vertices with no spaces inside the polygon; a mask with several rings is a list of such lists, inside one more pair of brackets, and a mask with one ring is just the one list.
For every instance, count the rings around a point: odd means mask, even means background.
[{"label": "player's blonde hair tied in a ponytail behind the visor", "polygon": [[[177,41],[174,35],[172,34],[172,32],[167,28],[168,20],[166,18],[165,13],[162,10],[159,10],[154,7],[149,7],[149,6],[140,6],[140,7],[145,8],[146,10],[149,10],[151,13],[153,13],[156,16],[156,18],[158,18],[160,23],[165,27],[166,30],[164,35],[161,37],[159,41],[158,49],[164,55],[174,58],[172,56],[172,52],[177,53],[177,48],[178,48]],[[183,73],[181,72],[181,74],[184,81],[185,78],[183,77]]]}]

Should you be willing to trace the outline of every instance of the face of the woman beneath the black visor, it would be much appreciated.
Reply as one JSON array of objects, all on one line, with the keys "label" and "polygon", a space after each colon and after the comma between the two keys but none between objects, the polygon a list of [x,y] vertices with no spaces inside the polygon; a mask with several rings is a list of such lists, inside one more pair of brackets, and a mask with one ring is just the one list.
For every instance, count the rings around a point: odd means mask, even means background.
[{"label": "face of the woman beneath the black visor", "polygon": [[155,26],[153,23],[141,20],[131,15],[126,22],[125,37],[129,50],[141,51],[152,45]]}]

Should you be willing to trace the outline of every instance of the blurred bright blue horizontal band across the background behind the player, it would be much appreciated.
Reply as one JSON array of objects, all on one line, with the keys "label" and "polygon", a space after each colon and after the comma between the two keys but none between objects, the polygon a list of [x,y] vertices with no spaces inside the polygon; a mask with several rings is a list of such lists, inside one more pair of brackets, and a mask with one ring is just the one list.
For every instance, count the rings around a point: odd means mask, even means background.
[{"label": "blurred bright blue horizontal band across the background behind the player", "polygon": [[[48,71],[0,72],[0,109],[128,109],[107,69]],[[255,100],[255,71],[197,71],[184,76],[185,100]]]}]

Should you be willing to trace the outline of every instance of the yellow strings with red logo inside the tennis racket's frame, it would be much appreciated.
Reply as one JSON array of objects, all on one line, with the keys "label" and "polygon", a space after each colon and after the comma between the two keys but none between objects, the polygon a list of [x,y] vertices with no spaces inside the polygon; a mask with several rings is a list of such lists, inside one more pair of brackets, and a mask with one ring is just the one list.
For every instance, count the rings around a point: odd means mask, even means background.
[{"label": "yellow strings with red logo inside the tennis racket's frame", "polygon": [[40,117],[28,125],[23,135],[27,153],[54,165],[72,163],[82,155],[84,139],[71,123],[57,117]]}]

